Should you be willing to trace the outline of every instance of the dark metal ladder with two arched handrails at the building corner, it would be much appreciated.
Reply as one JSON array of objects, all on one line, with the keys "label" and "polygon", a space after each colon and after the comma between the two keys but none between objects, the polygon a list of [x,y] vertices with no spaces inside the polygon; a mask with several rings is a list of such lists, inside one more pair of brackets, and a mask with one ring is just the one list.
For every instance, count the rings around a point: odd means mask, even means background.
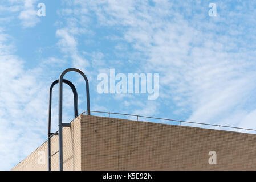
[{"label": "dark metal ladder with two arched handrails at the building corner", "polygon": [[[64,75],[67,72],[74,71],[80,73],[84,77],[84,80],[86,81],[86,97],[87,97],[87,114],[91,115],[90,113],[90,95],[89,95],[89,82],[87,80],[86,75],[79,69],[75,68],[68,68],[65,71],[62,72],[62,74],[59,77],[59,80],[55,80],[52,82],[50,86],[50,96],[49,96],[49,107],[48,107],[48,171],[51,171],[51,157],[54,156],[59,152],[59,170],[63,171],[63,140],[62,140],[62,127],[71,127],[70,123],[62,123],[62,100],[63,100],[63,82],[70,86],[70,88],[73,91],[74,94],[74,114],[75,118],[78,117],[78,93],[76,91],[75,86],[72,84],[72,82],[63,79]],[[55,133],[51,133],[51,100],[52,100],[52,88],[54,88],[54,85],[59,84],[59,130]],[[56,151],[54,154],[51,155],[51,137],[54,135],[59,136],[59,151]]]}]

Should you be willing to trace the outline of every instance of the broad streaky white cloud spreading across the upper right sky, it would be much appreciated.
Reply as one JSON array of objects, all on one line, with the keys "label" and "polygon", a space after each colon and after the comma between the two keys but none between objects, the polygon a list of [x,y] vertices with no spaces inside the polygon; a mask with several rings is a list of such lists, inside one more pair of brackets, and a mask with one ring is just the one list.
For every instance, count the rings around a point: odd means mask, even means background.
[{"label": "broad streaky white cloud spreading across the upper right sky", "polygon": [[[141,59],[141,69],[160,73],[160,100],[173,101],[192,113],[189,120],[222,123],[241,111],[243,119],[236,123],[230,118],[229,125],[246,122],[252,111],[245,109],[246,96],[256,88],[256,72],[251,69],[256,67],[251,51],[255,46],[248,45],[255,42],[255,26],[249,28],[252,36],[245,36],[249,40],[234,36],[244,35],[242,22],[226,12],[207,18],[208,5],[203,1],[153,1],[150,6],[141,1],[76,0],[75,4],[87,9],[88,16],[93,11],[103,26],[127,27],[124,40],[147,57]],[[219,10],[225,6],[229,5],[218,3]],[[235,7],[235,16],[250,23],[255,11],[247,14],[244,10],[251,5],[241,6]]]}]

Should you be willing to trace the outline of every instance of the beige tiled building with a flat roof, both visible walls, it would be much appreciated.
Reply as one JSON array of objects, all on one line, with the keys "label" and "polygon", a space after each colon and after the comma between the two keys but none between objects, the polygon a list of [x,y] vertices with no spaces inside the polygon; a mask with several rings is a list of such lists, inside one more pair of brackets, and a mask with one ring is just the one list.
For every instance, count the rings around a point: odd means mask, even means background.
[{"label": "beige tiled building with a flat roof, both visible walls", "polygon": [[[79,115],[63,128],[64,170],[255,170],[256,135]],[[44,142],[12,170],[47,170]],[[51,169],[59,169],[58,136]]]}]

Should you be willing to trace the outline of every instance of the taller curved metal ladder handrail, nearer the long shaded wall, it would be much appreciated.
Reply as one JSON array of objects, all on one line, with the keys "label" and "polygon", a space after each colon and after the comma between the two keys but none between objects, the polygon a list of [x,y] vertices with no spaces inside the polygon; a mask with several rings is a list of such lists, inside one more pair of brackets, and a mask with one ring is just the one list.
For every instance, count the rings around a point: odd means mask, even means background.
[{"label": "taller curved metal ladder handrail, nearer the long shaded wall", "polygon": [[64,126],[62,123],[62,94],[63,94],[63,77],[67,72],[78,72],[80,75],[83,76],[84,80],[86,81],[86,97],[87,97],[87,110],[88,110],[88,115],[91,115],[90,113],[90,95],[89,95],[89,82],[84,75],[82,71],[76,68],[68,68],[65,71],[60,74],[59,77],[59,170],[63,171],[63,142],[62,142],[62,127]]}]

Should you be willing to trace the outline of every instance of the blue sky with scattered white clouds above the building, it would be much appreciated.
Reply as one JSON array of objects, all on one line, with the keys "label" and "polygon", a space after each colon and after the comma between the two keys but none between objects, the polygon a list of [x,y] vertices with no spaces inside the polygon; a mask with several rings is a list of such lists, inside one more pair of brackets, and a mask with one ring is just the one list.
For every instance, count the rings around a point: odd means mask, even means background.
[{"label": "blue sky with scattered white clouds above the building", "polygon": [[[37,15],[38,3],[46,16]],[[217,16],[210,17],[209,3]],[[66,68],[86,73],[91,110],[256,129],[256,2],[2,0],[0,169],[47,140],[48,89]],[[99,94],[97,75],[159,73],[159,97]],[[82,78],[65,78],[79,92]],[[57,127],[54,89],[52,130]],[[64,122],[73,116],[64,86]]]}]

